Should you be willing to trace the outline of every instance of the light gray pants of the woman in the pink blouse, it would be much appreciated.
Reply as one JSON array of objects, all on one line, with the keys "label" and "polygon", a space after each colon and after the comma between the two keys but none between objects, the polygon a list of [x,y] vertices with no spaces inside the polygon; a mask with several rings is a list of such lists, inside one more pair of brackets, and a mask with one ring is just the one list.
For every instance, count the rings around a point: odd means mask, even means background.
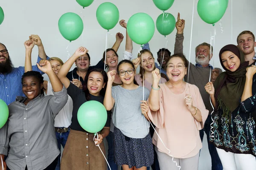
[{"label": "light gray pants of the woman in the pink blouse", "polygon": [[[179,168],[176,166],[176,163],[172,161],[171,156],[158,151],[157,147],[155,147],[155,150],[157,152],[160,170],[179,170]],[[177,165],[181,167],[181,170],[198,170],[199,152],[197,155],[191,158],[174,158],[173,160],[177,162]]]}]

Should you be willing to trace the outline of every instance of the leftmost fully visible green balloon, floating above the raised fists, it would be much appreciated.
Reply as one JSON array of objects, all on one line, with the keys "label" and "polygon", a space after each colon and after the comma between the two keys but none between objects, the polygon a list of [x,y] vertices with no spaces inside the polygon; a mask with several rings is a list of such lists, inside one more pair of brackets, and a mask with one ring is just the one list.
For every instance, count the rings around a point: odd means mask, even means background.
[{"label": "leftmost fully visible green balloon, floating above the raised fists", "polygon": [[78,14],[68,12],[60,17],[58,28],[65,39],[73,41],[82,34],[84,24]]}]

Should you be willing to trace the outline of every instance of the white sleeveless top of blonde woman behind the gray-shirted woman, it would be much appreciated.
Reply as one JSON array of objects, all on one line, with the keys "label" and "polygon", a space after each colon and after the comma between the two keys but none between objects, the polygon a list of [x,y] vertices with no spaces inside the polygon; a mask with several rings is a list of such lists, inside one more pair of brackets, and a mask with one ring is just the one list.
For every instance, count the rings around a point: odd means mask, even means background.
[{"label": "white sleeveless top of blonde woman behind the gray-shirted woman", "polygon": [[[52,85],[49,81],[47,86],[48,86],[47,96],[53,95]],[[73,101],[71,97],[68,96],[66,105],[61,109],[61,111],[59,111],[59,113],[55,117],[54,127],[69,127],[71,124],[72,111],[73,111]]]}]

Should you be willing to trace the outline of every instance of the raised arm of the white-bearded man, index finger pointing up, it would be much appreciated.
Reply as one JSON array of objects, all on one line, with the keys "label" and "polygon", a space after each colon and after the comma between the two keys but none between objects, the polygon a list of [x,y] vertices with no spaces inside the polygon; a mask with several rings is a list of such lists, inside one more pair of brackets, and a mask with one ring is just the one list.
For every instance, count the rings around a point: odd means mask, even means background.
[{"label": "raised arm of the white-bearded man, index finger pointing up", "polygon": [[175,38],[175,45],[174,45],[174,54],[183,53],[183,31],[185,28],[185,20],[180,19],[180,13],[178,13],[177,22],[176,22],[176,29],[177,34]]}]

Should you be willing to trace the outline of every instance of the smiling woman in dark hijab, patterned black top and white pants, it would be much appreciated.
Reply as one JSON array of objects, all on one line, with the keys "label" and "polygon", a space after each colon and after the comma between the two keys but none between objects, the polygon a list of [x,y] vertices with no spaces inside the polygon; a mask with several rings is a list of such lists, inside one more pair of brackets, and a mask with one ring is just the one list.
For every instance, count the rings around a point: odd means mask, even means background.
[{"label": "smiling woman in dark hijab, patterned black top and white pants", "polygon": [[217,147],[223,170],[256,169],[256,66],[248,67],[236,45],[221,48],[219,59],[225,72],[205,85],[215,113],[210,142]]}]

